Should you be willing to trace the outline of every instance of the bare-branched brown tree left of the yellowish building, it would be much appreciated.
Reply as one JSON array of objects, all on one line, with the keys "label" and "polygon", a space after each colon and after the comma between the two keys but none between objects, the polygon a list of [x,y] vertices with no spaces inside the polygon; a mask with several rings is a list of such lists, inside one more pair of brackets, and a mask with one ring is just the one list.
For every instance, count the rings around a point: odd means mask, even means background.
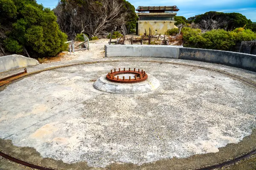
[{"label": "bare-branched brown tree left of the yellowish building", "polygon": [[78,33],[90,37],[105,34],[114,26],[136,23],[135,8],[125,0],[73,0],[60,1],[54,9],[58,24],[70,39]]}]

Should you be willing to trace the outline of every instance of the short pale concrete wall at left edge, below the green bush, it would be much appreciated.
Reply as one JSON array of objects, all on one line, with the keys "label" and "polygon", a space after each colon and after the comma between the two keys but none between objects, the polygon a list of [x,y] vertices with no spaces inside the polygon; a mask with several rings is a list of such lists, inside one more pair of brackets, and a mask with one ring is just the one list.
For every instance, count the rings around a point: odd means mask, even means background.
[{"label": "short pale concrete wall at left edge, below the green bush", "polygon": [[38,64],[39,62],[36,59],[24,57],[17,54],[3,56],[0,57],[0,73]]}]

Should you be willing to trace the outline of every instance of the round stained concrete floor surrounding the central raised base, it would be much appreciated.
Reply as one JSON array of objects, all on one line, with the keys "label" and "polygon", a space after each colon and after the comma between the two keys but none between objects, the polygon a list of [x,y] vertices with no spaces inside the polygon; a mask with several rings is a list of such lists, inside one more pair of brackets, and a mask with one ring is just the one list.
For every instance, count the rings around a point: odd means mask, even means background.
[{"label": "round stained concrete floor surrounding the central raised base", "polygon": [[[140,95],[93,88],[97,78],[119,67],[143,68],[161,85]],[[253,72],[239,71],[250,75],[248,79],[255,77]],[[213,156],[227,144],[252,142],[255,104],[255,88],[204,69],[131,61],[76,65],[2,88],[0,138],[67,164],[140,166],[207,153]],[[4,143],[1,149],[6,150]],[[255,147],[252,144],[248,150]]]}]

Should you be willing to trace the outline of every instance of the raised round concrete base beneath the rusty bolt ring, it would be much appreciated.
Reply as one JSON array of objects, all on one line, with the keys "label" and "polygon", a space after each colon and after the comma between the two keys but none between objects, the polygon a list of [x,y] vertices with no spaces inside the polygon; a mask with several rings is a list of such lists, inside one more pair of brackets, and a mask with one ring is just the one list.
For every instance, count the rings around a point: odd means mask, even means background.
[{"label": "raised round concrete base beneath the rusty bolt ring", "polygon": [[[120,77],[122,77],[120,75]],[[127,79],[128,77],[125,77]],[[99,91],[105,91],[114,94],[143,94],[156,90],[160,86],[160,82],[153,76],[148,74],[148,79],[144,82],[122,84],[110,82],[103,75],[95,83],[93,87]]]}]

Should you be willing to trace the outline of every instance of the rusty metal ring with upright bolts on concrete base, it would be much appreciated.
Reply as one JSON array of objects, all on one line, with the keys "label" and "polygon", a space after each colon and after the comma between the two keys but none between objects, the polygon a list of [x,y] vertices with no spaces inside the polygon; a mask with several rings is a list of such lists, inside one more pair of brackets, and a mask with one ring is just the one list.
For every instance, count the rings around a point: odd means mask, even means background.
[{"label": "rusty metal ring with upright bolts on concrete base", "polygon": [[[129,77],[129,79],[125,79],[123,76],[121,79],[118,75],[120,74],[135,74],[134,77]],[[117,76],[117,77],[115,77]],[[128,71],[125,71],[125,68],[123,71],[119,68],[119,71],[116,71],[116,69],[111,70],[106,76],[106,78],[111,82],[118,82],[118,83],[136,83],[136,82],[143,82],[148,79],[148,74],[145,73],[145,71],[134,68],[134,71],[131,71],[131,68],[129,68]]]}]

